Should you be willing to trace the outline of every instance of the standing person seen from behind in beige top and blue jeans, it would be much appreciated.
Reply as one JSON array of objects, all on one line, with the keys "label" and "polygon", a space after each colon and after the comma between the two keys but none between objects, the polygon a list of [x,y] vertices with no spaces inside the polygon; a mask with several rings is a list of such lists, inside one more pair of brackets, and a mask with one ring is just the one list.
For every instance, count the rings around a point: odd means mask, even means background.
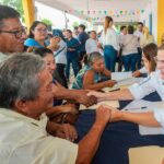
[{"label": "standing person seen from behind in beige top and blue jeans", "polygon": [[133,26],[128,26],[128,34],[122,36],[120,45],[122,47],[122,63],[125,71],[136,71],[138,62],[139,39],[133,35]]}]

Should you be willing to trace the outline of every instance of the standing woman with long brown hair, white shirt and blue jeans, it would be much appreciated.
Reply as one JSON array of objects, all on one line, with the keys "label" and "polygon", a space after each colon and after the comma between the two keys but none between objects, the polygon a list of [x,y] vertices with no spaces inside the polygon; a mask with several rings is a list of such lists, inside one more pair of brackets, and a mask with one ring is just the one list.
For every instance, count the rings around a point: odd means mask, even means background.
[{"label": "standing woman with long brown hair, white shirt and blue jeans", "polygon": [[115,30],[113,28],[113,17],[106,16],[104,23],[104,31],[99,38],[102,46],[104,47],[105,66],[108,70],[115,71],[118,40]]}]

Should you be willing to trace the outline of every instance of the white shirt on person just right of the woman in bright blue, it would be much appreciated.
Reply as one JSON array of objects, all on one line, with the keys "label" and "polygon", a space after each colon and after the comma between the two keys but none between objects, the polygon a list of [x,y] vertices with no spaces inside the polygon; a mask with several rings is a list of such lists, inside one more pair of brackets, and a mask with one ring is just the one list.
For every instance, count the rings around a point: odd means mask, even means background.
[{"label": "white shirt on person just right of the woman in bright blue", "polygon": [[[59,43],[59,49],[57,51],[54,51],[54,55],[55,55],[55,59],[56,59],[56,63],[63,63],[63,65],[67,65],[67,44],[61,39],[60,43]],[[58,51],[60,51],[57,56],[56,54]]]}]

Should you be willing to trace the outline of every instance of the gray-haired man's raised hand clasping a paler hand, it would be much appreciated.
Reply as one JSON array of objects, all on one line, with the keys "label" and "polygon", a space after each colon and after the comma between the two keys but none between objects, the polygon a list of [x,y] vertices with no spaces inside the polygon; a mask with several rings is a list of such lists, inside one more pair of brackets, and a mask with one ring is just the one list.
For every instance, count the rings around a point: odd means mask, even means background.
[{"label": "gray-haired man's raised hand clasping a paler hand", "polygon": [[106,106],[101,105],[96,109],[96,121],[99,125],[106,125],[110,120],[112,110],[108,109]]}]

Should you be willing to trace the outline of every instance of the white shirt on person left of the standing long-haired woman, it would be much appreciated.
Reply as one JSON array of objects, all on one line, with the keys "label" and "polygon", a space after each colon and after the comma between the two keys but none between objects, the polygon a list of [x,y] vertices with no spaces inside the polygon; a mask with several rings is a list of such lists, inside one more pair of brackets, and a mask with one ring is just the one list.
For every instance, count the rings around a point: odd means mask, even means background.
[{"label": "white shirt on person left of the standing long-haired woman", "polygon": [[99,49],[97,48],[97,40],[93,38],[89,38],[85,43],[85,50],[86,54],[91,54],[93,51],[99,51]]}]

